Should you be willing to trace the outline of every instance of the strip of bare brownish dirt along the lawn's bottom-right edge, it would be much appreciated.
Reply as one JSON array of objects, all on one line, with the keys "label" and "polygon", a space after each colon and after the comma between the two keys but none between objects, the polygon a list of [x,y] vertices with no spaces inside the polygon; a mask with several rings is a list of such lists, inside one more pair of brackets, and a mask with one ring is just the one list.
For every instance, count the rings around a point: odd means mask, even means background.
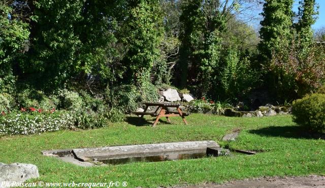
[{"label": "strip of bare brownish dirt along the lawn's bottom-right edge", "polygon": [[201,184],[196,186],[186,186],[187,188],[197,187],[225,187],[225,188],[296,188],[296,187],[313,187],[313,188],[325,188],[325,176],[311,175],[307,177],[264,177],[257,179],[245,179],[235,180],[224,184]]}]

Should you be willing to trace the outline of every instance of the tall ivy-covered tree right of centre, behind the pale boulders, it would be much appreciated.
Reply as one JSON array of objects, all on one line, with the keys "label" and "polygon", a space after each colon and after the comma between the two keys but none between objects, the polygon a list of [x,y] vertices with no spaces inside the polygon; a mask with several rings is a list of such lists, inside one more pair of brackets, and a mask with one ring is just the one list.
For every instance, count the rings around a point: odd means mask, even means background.
[{"label": "tall ivy-covered tree right of centre, behind the pale boulders", "polygon": [[[206,95],[212,86],[213,72],[219,66],[221,33],[225,29],[225,16],[220,12],[220,1],[187,1],[183,5],[181,21],[183,55],[181,59],[187,70],[189,62],[194,72],[196,84],[201,88],[200,95]],[[185,79],[185,78],[183,78]]]}]

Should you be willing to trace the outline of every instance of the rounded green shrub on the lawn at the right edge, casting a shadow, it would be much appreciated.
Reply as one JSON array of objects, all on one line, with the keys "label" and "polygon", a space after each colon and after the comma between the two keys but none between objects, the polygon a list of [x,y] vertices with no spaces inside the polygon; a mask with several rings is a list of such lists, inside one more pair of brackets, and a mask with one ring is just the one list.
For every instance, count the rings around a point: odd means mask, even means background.
[{"label": "rounded green shrub on the lawn at the right edge, casting a shadow", "polygon": [[293,103],[294,121],[308,129],[325,133],[325,94],[307,95]]}]

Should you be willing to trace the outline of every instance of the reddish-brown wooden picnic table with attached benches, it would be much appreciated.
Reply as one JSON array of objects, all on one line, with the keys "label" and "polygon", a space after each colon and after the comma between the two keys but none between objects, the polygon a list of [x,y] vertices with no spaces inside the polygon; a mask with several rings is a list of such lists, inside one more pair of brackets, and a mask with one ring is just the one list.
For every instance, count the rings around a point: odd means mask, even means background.
[{"label": "reddish-brown wooden picnic table with attached benches", "polygon": [[[158,123],[158,121],[161,117],[166,117],[168,122],[171,122],[169,117],[182,117],[185,125],[188,125],[187,121],[185,120],[185,116],[188,116],[190,113],[181,110],[181,108],[179,107],[181,105],[181,103],[144,102],[144,104],[146,105],[146,107],[143,112],[136,111],[136,112],[133,112],[133,114],[139,115],[139,116],[141,116],[141,118],[143,118],[143,116],[145,116],[145,115],[150,115],[152,117],[156,117],[156,120],[152,125],[153,127],[156,126],[156,124]],[[158,106],[158,107],[154,112],[147,112],[147,109],[149,106]],[[176,111],[169,110],[168,109],[169,107],[175,107]],[[160,109],[160,111],[159,111],[159,109]]]}]

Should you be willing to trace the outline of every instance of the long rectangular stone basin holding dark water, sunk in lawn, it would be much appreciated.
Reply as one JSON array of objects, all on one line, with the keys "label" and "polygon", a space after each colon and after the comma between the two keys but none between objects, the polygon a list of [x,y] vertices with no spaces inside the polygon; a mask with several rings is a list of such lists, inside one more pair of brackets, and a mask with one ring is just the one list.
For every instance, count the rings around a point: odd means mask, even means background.
[{"label": "long rectangular stone basin holding dark water, sunk in lawn", "polygon": [[44,156],[58,157],[65,162],[85,167],[198,159],[209,155],[230,154],[228,149],[222,149],[218,143],[212,140],[62,149],[43,151],[42,153]]}]

